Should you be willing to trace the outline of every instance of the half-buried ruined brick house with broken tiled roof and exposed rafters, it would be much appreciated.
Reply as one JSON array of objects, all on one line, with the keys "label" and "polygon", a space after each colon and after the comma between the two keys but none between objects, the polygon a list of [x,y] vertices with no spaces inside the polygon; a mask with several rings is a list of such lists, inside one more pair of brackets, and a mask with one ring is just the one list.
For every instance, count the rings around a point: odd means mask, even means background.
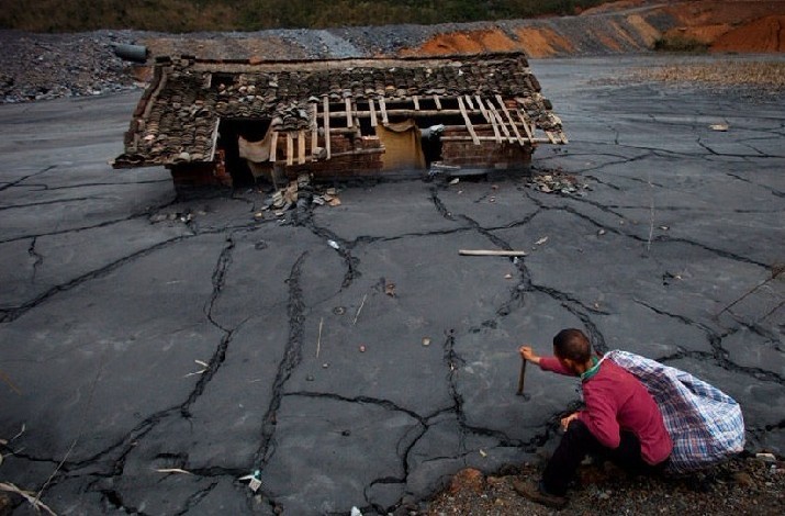
[{"label": "half-buried ruined brick house with broken tiled roof and exposed rafters", "polygon": [[526,169],[561,121],[520,53],[307,61],[157,58],[115,168],[176,186]]}]

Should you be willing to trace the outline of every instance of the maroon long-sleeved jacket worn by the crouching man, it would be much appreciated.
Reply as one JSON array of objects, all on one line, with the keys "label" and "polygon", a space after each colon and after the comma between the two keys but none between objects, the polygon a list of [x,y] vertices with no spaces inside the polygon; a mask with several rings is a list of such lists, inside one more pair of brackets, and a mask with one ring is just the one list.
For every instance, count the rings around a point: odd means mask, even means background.
[{"label": "maroon long-sleeved jacket worn by the crouching man", "polygon": [[[556,357],[541,357],[540,369],[574,377]],[[597,440],[618,448],[620,430],[628,430],[640,441],[640,455],[649,464],[668,459],[673,449],[657,402],[640,381],[610,360],[604,360],[592,378],[583,381],[586,408],[579,419]]]}]

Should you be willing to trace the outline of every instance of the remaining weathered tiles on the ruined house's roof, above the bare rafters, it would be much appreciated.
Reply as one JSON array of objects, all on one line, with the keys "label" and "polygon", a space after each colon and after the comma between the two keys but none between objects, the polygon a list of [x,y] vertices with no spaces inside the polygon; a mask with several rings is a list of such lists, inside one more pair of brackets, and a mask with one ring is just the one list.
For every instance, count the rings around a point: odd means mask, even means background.
[{"label": "remaining weathered tiles on the ruined house's roof, above the bare rafters", "polygon": [[300,131],[317,124],[314,104],[344,106],[348,100],[357,110],[371,100],[413,100],[418,106],[418,98],[438,104],[438,99],[467,96],[470,104],[472,98],[517,99],[532,126],[547,131],[551,141],[563,138],[560,121],[520,53],[276,63],[183,56],[156,64],[126,133],[125,153],[114,165],[210,161],[222,117],[267,119],[277,131]]}]

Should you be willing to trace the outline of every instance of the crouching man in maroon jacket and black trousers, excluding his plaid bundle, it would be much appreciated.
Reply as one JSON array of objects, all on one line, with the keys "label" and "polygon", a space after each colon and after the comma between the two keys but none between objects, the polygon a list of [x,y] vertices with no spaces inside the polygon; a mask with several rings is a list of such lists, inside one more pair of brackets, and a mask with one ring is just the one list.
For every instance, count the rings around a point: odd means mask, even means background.
[{"label": "crouching man in maroon jacket and black trousers, excluding his plaid bundle", "polygon": [[565,506],[567,486],[586,455],[636,473],[664,469],[673,444],[654,399],[632,374],[599,360],[583,332],[559,332],[553,357],[539,357],[529,346],[518,351],[542,370],[579,377],[585,403],[584,410],[561,420],[565,433],[539,484],[513,482],[518,494],[550,507]]}]

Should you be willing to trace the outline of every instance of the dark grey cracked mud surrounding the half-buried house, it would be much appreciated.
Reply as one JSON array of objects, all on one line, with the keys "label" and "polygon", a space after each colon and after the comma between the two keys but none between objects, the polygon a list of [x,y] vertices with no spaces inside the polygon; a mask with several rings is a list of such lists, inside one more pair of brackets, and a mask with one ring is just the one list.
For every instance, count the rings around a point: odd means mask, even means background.
[{"label": "dark grey cracked mud surrounding the half-buried house", "polygon": [[604,82],[666,61],[532,63],[570,136],[534,173],[580,195],[410,178],[283,221],[112,170],[138,93],[1,106],[0,482],[58,514],[411,507],[554,445],[576,382],[516,396],[517,347],[563,327],[709,381],[783,456],[785,103]]}]

